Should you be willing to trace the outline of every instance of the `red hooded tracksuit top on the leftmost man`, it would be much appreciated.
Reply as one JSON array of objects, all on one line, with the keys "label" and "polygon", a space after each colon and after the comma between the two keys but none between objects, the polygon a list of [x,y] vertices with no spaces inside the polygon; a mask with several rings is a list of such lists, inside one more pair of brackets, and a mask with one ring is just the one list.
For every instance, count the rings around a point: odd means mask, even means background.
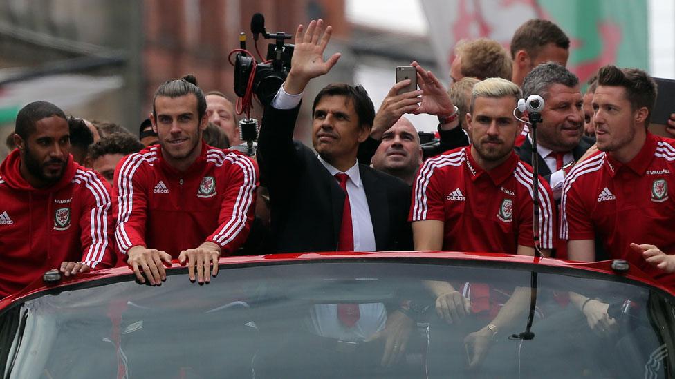
[{"label": "red hooded tracksuit top on the leftmost man", "polygon": [[0,298],[64,261],[112,266],[110,185],[71,156],[59,182],[33,188],[20,163],[15,149],[0,165]]}]

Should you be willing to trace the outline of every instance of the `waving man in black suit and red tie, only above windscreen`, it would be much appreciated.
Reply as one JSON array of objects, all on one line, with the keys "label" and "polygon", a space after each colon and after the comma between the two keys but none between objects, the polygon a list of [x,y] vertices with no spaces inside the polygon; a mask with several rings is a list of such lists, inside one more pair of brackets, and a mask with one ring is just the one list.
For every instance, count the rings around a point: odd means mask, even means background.
[{"label": "waving man in black suit and red tie, only above windscreen", "polygon": [[[320,29],[322,24],[320,21]],[[316,28],[317,22],[312,21],[304,39],[321,35]],[[358,145],[369,136],[375,118],[366,90],[329,84],[317,94],[312,106],[312,142],[318,155],[292,139],[306,84],[328,72],[340,57],[336,54],[325,62],[322,59],[330,30],[317,43],[296,36],[302,45],[295,48],[293,68],[272,106],[265,108],[258,159],[263,185],[270,191],[275,249],[397,250],[407,226],[403,206],[409,202],[409,188],[399,179],[356,162]],[[336,178],[338,174],[342,179]],[[343,206],[345,198],[348,202]],[[382,208],[389,209],[386,215]],[[346,217],[351,221],[344,222]],[[311,235],[306,235],[307,230]],[[343,245],[347,240],[349,246]]]}]

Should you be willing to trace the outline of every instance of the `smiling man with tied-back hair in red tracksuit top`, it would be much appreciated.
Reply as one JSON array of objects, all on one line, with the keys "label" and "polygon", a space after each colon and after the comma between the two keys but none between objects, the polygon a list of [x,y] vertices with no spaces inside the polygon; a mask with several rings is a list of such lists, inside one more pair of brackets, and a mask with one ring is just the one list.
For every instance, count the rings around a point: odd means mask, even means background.
[{"label": "smiling man with tied-back hair in red tracksuit top", "polygon": [[150,284],[161,284],[172,258],[187,261],[190,280],[210,282],[219,257],[246,240],[257,165],[203,142],[206,100],[192,75],[157,89],[150,119],[159,145],[129,155],[115,170],[118,249],[142,283],[141,270]]}]

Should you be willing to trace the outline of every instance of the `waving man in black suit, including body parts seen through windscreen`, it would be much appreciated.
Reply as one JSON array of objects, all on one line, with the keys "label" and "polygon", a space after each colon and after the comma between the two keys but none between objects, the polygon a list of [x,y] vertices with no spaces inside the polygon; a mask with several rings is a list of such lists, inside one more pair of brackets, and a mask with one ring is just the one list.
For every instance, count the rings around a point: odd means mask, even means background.
[{"label": "waving man in black suit, including body parts seen through windscreen", "polygon": [[[298,27],[292,68],[263,115],[257,154],[262,184],[270,192],[274,249],[279,253],[405,249],[409,187],[357,162],[358,146],[369,136],[375,118],[362,86],[329,84],[317,94],[312,105],[316,153],[293,141],[306,85],[329,72],[340,58],[335,54],[323,59],[331,30],[329,26],[324,32],[322,20],[311,21],[306,32]],[[368,347],[373,344],[367,340],[384,340],[385,352],[378,359],[385,366],[398,361],[413,328],[405,313],[379,302],[313,304],[306,324],[309,327],[302,332],[329,343]],[[293,344],[294,354],[298,348],[308,347]],[[313,353],[307,350],[303,353]],[[292,370],[293,365],[278,369]],[[284,376],[277,371],[270,375]]]}]

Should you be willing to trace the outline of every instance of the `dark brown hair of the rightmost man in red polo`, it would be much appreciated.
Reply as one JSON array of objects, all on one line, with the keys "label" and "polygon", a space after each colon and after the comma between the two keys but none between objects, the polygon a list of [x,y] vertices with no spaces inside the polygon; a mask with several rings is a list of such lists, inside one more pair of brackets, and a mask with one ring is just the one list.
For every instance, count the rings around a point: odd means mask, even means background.
[{"label": "dark brown hair of the rightmost man in red polo", "polygon": [[656,81],[647,72],[639,68],[618,68],[613,65],[603,66],[598,70],[598,86],[614,86],[626,89],[631,109],[647,107],[649,114],[645,125],[651,122],[651,112],[656,102]]}]

